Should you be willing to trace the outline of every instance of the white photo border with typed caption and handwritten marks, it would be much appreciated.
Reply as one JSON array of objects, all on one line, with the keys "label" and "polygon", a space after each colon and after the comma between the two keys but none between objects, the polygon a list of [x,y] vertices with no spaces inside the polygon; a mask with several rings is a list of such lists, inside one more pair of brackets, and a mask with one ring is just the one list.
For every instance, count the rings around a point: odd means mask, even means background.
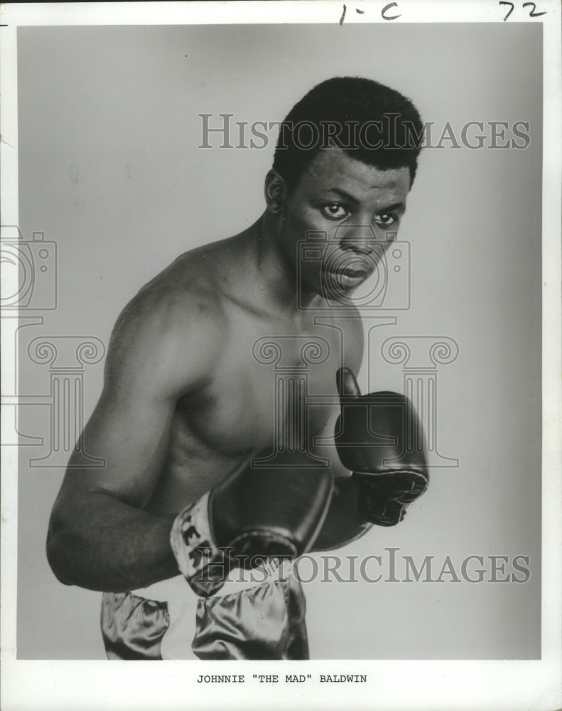
[{"label": "white photo border with typed caption and handwritten marks", "polygon": [[[170,25],[227,23],[337,23],[342,1],[14,3],[0,9],[2,223],[18,224],[17,55],[18,26]],[[349,2],[347,5],[350,6]],[[386,2],[362,0],[363,16],[346,22],[384,22]],[[538,7],[540,5],[540,8]],[[519,6],[519,4],[518,4]],[[502,22],[507,6],[496,0],[399,0],[408,23]],[[1,707],[25,709],[490,709],[553,710],[562,704],[562,492],[561,492],[561,6],[540,0],[541,17],[514,12],[509,21],[544,28],[543,164],[543,497],[542,658],[539,661],[287,661],[240,662],[249,683],[198,685],[200,674],[232,673],[212,661],[129,662],[16,660],[17,451],[4,447],[1,482]],[[14,357],[3,343],[3,360]],[[6,362],[4,360],[4,362]],[[7,370],[7,369],[6,369]],[[3,384],[4,385],[4,384]],[[4,418],[4,413],[3,413]],[[4,425],[3,420],[3,425]],[[367,673],[367,684],[334,688],[318,683],[258,684],[252,673]],[[203,688],[204,687],[204,688]],[[282,687],[282,688],[281,688]],[[376,701],[375,701],[376,699]]]}]

